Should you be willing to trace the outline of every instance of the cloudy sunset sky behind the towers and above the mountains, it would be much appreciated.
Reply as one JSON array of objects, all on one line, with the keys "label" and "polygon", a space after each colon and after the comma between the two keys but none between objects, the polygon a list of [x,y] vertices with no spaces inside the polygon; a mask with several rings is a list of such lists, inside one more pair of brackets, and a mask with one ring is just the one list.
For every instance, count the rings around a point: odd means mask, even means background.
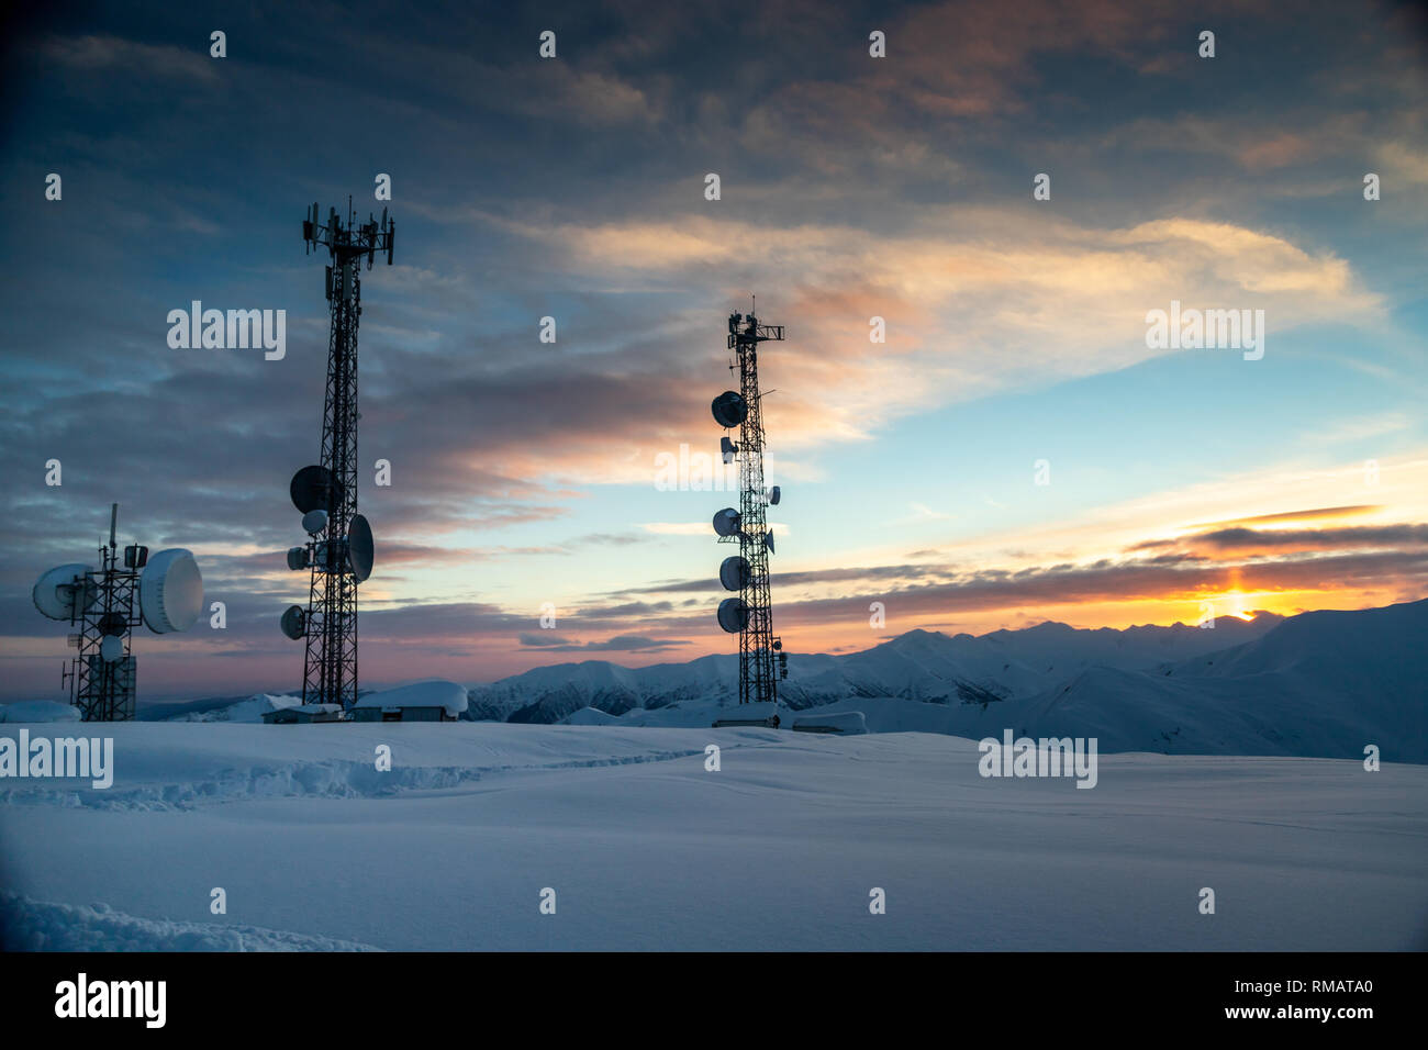
[{"label": "cloudy sunset sky behind the towers and above the mountains", "polygon": [[[61,697],[30,589],[94,559],[111,501],[226,609],[136,633],[141,700],[300,687],[287,483],[327,353],[300,223],[348,197],[398,230],[361,286],[364,687],[735,651],[710,521],[737,494],[701,466],[755,294],[787,331],[760,374],[794,660],[1422,599],[1425,41],[1384,3],[24,14],[0,699]],[[170,347],[193,300],[284,310],[286,356]],[[1262,311],[1262,356],[1157,346],[1172,303]]]}]

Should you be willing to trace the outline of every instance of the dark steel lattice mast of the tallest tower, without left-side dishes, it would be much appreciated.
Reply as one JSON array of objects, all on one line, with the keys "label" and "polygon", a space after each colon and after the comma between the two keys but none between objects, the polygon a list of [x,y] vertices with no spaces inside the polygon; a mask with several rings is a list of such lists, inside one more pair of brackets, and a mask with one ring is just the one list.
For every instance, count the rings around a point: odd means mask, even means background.
[{"label": "dark steel lattice mast of the tallest tower, without left-side dishes", "polygon": [[326,247],[327,301],[331,329],[327,341],[327,396],[323,404],[320,463],[337,481],[327,527],[308,540],[311,583],[307,597],[303,703],[357,701],[357,579],[346,561],[347,530],[357,514],[357,323],[361,317],[361,261],[371,269],[377,251],[391,264],[396,223],[387,211],[381,223],[356,223],[348,201],[346,221],[331,209],[317,224],[317,204],[303,221],[308,249]]}]

